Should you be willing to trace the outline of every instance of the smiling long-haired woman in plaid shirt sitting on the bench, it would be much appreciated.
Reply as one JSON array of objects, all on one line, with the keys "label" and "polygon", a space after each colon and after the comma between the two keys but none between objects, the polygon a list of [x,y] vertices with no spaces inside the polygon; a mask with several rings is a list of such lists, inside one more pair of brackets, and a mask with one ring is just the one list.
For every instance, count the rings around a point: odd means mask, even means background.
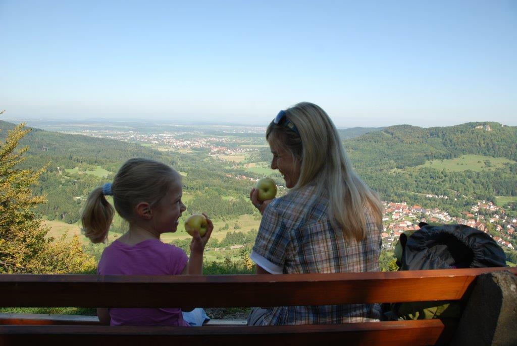
[{"label": "smiling long-haired woman in plaid shirt sitting on the bench", "polygon": [[[382,205],[355,174],[336,127],[317,105],[280,111],[266,131],[278,169],[291,189],[264,202],[251,259],[257,274],[378,271]],[[249,324],[323,324],[372,321],[372,304],[254,309]]]}]

